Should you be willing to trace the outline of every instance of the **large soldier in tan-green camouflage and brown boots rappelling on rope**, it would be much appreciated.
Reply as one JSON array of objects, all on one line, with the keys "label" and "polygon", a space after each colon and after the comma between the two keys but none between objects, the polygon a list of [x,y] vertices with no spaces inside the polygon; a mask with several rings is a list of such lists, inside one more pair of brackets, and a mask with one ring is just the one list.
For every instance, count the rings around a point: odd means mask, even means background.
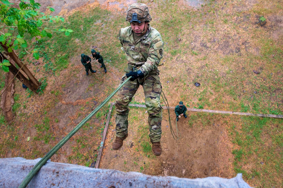
[{"label": "large soldier in tan-green camouflage and brown boots rappelling on rope", "polygon": [[115,103],[116,140],[112,148],[119,150],[123,140],[128,136],[128,104],[141,85],[145,95],[152,151],[154,155],[159,156],[162,152],[160,145],[162,87],[157,67],[163,57],[163,42],[159,32],[149,24],[151,16],[145,4],[132,4],[128,8],[126,20],[130,22],[130,26],[120,29],[118,38],[127,58],[126,72],[128,73],[121,78],[120,84],[128,77],[132,77],[118,91]]}]

